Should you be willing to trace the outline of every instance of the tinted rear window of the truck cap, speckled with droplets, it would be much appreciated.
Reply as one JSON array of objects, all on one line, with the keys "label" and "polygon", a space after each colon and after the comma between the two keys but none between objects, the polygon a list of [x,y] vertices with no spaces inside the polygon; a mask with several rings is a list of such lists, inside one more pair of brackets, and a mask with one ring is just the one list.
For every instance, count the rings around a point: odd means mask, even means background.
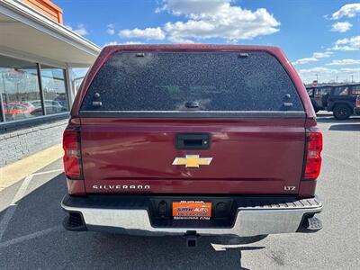
[{"label": "tinted rear window of the truck cap, speckled with droplets", "polygon": [[81,110],[303,112],[303,107],[290,77],[267,53],[119,52],[94,77]]}]

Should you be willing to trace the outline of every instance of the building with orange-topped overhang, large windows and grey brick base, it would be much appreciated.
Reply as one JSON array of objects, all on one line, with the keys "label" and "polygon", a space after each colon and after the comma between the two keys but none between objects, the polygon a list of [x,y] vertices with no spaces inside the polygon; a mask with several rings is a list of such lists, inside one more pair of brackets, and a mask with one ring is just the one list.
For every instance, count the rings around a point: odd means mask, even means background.
[{"label": "building with orange-topped overhang, large windows and grey brick base", "polygon": [[91,66],[99,52],[62,25],[49,0],[0,1],[0,166],[61,141],[72,69]]}]

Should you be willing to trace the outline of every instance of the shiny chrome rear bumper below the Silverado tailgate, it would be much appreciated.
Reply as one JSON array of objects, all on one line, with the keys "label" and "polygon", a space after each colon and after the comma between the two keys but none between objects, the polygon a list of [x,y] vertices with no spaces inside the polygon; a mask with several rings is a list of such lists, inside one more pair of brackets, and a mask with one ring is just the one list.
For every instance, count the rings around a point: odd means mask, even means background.
[{"label": "shiny chrome rear bumper below the Silverado tailgate", "polygon": [[237,235],[240,237],[289,233],[301,230],[307,217],[322,211],[318,197],[293,202],[259,204],[238,207],[235,222],[230,228],[211,227],[154,227],[146,209],[96,208],[94,205],[70,205],[64,198],[65,211],[81,213],[85,228],[120,231],[141,235],[184,235],[196,231],[202,235]]}]

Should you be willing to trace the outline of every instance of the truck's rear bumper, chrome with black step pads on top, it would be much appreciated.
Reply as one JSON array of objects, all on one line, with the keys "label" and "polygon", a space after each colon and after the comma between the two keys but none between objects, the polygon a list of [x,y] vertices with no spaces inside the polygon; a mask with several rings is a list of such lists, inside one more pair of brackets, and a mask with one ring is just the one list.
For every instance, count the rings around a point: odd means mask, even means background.
[{"label": "truck's rear bumper, chrome with black step pads on top", "polygon": [[121,200],[118,203],[116,198],[112,197],[111,200],[101,202],[98,196],[94,199],[67,195],[61,206],[70,215],[79,214],[83,222],[83,227],[71,229],[65,226],[66,229],[103,230],[133,235],[184,235],[196,232],[202,235],[248,237],[299,232],[304,231],[303,224],[308,218],[322,211],[322,203],[318,197],[298,201],[281,197],[238,197],[231,200],[236,202],[236,209],[230,226],[203,226],[201,222],[193,220],[187,223],[184,223],[184,220],[179,221],[180,223],[173,221],[171,225],[164,226],[159,226],[158,223],[154,225],[151,207],[147,205],[147,202],[150,202],[148,200],[135,203]]}]

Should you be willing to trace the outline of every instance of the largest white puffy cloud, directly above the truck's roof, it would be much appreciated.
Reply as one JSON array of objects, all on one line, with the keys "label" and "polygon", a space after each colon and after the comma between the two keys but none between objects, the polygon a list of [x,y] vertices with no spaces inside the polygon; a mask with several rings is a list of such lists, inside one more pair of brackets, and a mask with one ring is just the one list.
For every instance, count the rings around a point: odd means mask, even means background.
[{"label": "largest white puffy cloud, directly above the truck's roof", "polygon": [[[251,40],[257,36],[279,31],[279,22],[265,8],[256,11],[231,5],[229,0],[166,0],[158,12],[183,15],[186,19],[168,22],[160,28],[121,31],[122,37],[190,43],[194,40],[224,39],[228,41]],[[157,34],[147,35],[157,29]],[[160,38],[161,37],[161,38]]]}]

